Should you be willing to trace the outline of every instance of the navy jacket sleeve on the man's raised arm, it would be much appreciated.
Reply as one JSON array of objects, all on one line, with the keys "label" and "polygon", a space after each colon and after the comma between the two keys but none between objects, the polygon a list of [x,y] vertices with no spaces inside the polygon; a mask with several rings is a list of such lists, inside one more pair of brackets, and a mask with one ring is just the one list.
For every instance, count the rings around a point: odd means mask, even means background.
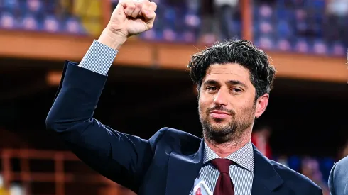
[{"label": "navy jacket sleeve on the man's raised arm", "polygon": [[66,62],[46,126],[89,167],[136,192],[161,136],[143,140],[93,118],[106,80],[106,75]]}]

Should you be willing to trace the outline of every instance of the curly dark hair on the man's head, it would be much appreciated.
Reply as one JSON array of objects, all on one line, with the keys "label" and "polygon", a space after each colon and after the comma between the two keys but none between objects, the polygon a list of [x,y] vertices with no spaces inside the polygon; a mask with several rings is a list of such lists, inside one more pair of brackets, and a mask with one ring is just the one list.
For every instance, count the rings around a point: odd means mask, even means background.
[{"label": "curly dark hair on the man's head", "polygon": [[197,84],[197,90],[210,65],[227,63],[236,63],[249,69],[251,83],[256,89],[256,99],[271,91],[276,69],[268,61],[266,53],[248,40],[217,42],[192,55],[188,68],[192,81]]}]

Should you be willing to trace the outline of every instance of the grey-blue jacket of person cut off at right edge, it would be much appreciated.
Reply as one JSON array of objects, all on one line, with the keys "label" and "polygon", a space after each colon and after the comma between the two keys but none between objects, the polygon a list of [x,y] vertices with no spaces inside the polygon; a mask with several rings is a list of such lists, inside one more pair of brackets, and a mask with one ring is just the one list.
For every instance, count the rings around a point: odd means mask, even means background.
[{"label": "grey-blue jacket of person cut off at right edge", "polygon": [[348,156],[336,162],[329,176],[331,195],[348,195]]}]

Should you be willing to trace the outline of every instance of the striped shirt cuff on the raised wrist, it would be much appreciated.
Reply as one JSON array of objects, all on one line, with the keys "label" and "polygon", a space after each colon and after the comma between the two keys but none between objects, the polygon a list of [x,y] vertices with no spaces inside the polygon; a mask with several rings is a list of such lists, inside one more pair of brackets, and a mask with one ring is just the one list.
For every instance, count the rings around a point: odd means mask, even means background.
[{"label": "striped shirt cuff on the raised wrist", "polygon": [[85,57],[82,58],[79,67],[107,75],[117,52],[119,51],[109,48],[107,45],[99,43],[97,40],[93,40]]}]

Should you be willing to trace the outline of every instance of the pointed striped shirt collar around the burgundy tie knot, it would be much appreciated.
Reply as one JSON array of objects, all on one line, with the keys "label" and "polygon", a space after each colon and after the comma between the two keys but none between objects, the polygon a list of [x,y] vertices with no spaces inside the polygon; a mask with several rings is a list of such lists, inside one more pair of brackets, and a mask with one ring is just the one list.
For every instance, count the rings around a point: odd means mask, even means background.
[{"label": "pointed striped shirt collar around the burgundy tie knot", "polygon": [[[205,143],[204,148],[204,158],[203,163],[209,162],[210,160],[221,158],[219,157],[210,147],[208,147],[207,143]],[[251,141],[241,147],[236,152],[233,152],[228,157],[225,157],[228,160],[232,160],[236,164],[244,167],[244,169],[249,170],[250,172],[254,172],[254,150]]]}]

